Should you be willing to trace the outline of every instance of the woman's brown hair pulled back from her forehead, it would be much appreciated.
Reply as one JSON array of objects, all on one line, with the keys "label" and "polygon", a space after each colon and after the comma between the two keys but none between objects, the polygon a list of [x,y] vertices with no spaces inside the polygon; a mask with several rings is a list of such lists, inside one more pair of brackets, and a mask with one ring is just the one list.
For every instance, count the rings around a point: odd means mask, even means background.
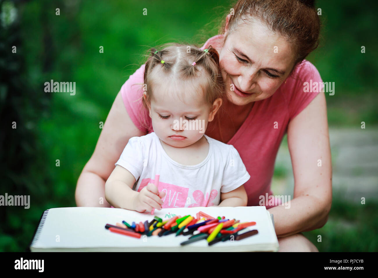
[{"label": "woman's brown hair pulled back from her forehead", "polygon": [[[233,8],[228,34],[237,29],[241,20],[248,21],[248,16],[261,19],[291,43],[296,54],[292,71],[319,45],[321,23],[314,0],[239,0]],[[220,28],[221,34],[225,33],[225,26],[226,22]]]}]

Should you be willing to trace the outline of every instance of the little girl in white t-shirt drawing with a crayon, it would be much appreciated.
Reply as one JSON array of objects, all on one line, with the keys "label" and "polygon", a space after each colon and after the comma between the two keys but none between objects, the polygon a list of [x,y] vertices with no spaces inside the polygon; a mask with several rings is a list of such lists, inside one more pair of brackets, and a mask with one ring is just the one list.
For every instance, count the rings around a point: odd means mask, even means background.
[{"label": "little girl in white t-shirt drawing with a crayon", "polygon": [[105,183],[106,200],[139,212],[246,206],[250,176],[239,153],[204,134],[222,105],[217,50],[173,43],[149,52],[143,104],[154,132],[130,138]]}]

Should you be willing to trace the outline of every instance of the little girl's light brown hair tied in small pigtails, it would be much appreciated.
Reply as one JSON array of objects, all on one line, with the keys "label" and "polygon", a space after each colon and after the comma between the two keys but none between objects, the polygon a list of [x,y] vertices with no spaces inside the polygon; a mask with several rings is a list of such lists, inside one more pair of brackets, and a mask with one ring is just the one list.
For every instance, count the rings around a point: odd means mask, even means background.
[{"label": "little girl's light brown hair tied in small pigtails", "polygon": [[[147,103],[150,103],[153,84],[158,82],[151,74],[155,67],[158,68],[158,75],[172,76],[183,81],[196,82],[205,75],[207,82],[202,89],[206,102],[212,104],[215,99],[222,98],[224,84],[217,50],[209,46],[206,52],[195,45],[180,43],[168,43],[162,48],[160,51],[155,48],[148,50],[148,59],[144,68],[144,84],[147,87],[146,99],[143,98],[145,108],[147,108]],[[193,62],[195,65],[192,65]]]}]

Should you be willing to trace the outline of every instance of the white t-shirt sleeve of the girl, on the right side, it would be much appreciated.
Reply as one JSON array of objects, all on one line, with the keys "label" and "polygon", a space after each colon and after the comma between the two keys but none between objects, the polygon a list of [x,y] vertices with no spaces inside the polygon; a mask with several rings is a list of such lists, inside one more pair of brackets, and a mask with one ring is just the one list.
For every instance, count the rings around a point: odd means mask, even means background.
[{"label": "white t-shirt sleeve of the girl, on the right side", "polygon": [[220,192],[227,193],[246,183],[251,176],[234,146],[229,145],[227,164],[223,171],[222,187]]}]

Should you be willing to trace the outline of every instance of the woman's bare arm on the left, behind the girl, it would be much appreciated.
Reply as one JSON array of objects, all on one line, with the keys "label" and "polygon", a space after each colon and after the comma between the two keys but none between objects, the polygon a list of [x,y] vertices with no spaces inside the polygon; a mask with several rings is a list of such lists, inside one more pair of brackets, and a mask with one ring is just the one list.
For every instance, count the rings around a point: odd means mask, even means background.
[{"label": "woman's bare arm on the left, behind the girl", "polygon": [[110,207],[105,199],[108,179],[131,137],[145,135],[130,119],[121,92],[106,118],[95,151],[77,180],[75,199],[78,207]]}]

